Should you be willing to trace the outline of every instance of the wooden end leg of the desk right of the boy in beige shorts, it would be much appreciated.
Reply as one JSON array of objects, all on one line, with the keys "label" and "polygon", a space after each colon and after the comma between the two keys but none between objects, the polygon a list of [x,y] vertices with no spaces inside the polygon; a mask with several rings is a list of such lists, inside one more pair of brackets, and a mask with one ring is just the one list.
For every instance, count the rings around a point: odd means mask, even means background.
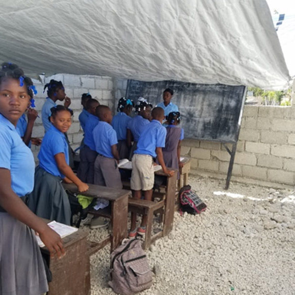
[{"label": "wooden end leg of the desk right of the boy in beige shorts", "polygon": [[173,228],[176,180],[177,173],[167,177],[163,236],[167,236]]}]

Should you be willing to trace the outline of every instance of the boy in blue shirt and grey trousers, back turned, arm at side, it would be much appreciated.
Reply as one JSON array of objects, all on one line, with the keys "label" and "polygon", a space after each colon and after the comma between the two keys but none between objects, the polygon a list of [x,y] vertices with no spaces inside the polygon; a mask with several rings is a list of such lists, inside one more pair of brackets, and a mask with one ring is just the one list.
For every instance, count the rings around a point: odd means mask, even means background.
[{"label": "boy in blue shirt and grey trousers, back turned, arm at side", "polygon": [[111,125],[112,112],[108,106],[99,105],[95,113],[99,122],[92,132],[98,153],[94,162],[94,184],[122,188],[118,169],[117,134]]}]

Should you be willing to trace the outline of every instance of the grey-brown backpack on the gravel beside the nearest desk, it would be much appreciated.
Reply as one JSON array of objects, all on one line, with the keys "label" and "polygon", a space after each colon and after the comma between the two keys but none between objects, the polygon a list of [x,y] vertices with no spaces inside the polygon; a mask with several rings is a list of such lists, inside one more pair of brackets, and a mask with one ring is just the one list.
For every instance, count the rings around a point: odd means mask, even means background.
[{"label": "grey-brown backpack on the gravel beside the nearest desk", "polygon": [[111,281],[115,293],[130,295],[148,289],[152,272],[138,239],[128,240],[111,253]]}]

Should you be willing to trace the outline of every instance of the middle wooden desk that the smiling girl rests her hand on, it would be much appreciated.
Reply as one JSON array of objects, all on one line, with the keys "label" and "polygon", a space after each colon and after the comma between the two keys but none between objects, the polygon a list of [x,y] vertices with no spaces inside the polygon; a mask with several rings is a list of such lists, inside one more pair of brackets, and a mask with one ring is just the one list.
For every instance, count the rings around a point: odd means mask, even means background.
[{"label": "middle wooden desk that the smiling girl rests her hand on", "polygon": [[[63,187],[72,193],[79,193],[77,186],[73,183],[63,183]],[[106,208],[100,210],[89,210],[89,213],[104,217],[111,218],[113,227],[113,233],[105,240],[98,243],[96,247],[90,251],[90,255],[97,250],[104,247],[109,241],[111,241],[111,251],[116,249],[121,243],[122,239],[127,237],[127,217],[128,217],[128,197],[131,196],[131,192],[123,189],[115,189],[106,186],[100,186],[95,184],[89,184],[89,190],[82,193],[84,196],[103,198],[109,200],[111,203],[111,212]]]}]

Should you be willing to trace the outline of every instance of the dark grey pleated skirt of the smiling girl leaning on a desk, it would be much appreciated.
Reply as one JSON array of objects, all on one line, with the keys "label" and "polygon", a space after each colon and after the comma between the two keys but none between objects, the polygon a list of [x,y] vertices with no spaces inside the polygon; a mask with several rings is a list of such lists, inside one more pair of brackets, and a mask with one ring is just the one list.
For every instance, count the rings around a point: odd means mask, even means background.
[{"label": "dark grey pleated skirt of the smiling girl leaning on a desk", "polygon": [[67,225],[71,223],[70,202],[61,178],[40,166],[35,169],[34,189],[29,194],[28,207],[39,217]]}]

